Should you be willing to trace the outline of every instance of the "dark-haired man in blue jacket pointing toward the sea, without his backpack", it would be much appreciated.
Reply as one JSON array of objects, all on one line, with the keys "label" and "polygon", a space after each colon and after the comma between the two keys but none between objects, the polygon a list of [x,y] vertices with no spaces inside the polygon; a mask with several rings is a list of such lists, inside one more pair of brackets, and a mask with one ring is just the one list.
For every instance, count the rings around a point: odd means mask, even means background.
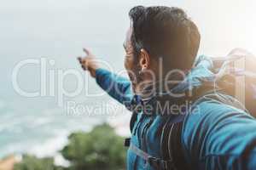
[{"label": "dark-haired man in blue jacket pointing toward the sea, without his backpack", "polygon": [[[183,159],[179,161],[183,165],[174,167],[256,169],[256,122],[240,108],[211,97],[211,93],[207,95],[211,90],[216,94],[215,86],[208,86],[214,85],[215,75],[210,59],[195,59],[200,33],[194,22],[181,8],[169,7],[138,6],[131,9],[130,17],[131,27],[124,43],[125,69],[130,81],[102,69],[87,49],[87,56],[79,58],[99,86],[137,112],[131,126],[127,169],[162,168],[147,156],[163,159],[162,129],[167,119],[172,124],[177,117],[182,117],[183,122],[177,134],[181,144],[172,149],[182,153]],[[207,90],[194,93],[197,89]],[[179,108],[183,102],[177,101],[187,94],[194,98],[195,109],[184,111]],[[160,105],[152,103],[154,99],[160,99]],[[166,102],[171,108],[177,107],[164,110]],[[137,105],[143,105],[143,109],[134,110]],[[153,107],[145,110],[145,105]]]}]

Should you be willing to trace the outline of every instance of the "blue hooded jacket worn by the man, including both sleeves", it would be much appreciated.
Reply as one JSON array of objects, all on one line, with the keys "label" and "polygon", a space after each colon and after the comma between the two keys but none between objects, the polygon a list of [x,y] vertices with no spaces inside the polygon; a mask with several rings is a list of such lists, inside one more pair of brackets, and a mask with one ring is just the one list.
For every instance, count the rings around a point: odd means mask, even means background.
[{"label": "blue hooded jacket worn by the man, including both sleeves", "polygon": [[[201,56],[196,63],[188,77],[175,87],[178,92],[212,81],[212,61]],[[126,105],[133,97],[129,80],[107,70],[96,70],[96,82],[121,104]],[[214,99],[201,99],[196,105],[200,109],[185,116],[181,135],[181,150],[191,169],[256,169],[256,121],[253,116]],[[131,143],[151,156],[160,157],[160,126],[165,118],[139,113]],[[127,169],[154,168],[128,150]]]}]

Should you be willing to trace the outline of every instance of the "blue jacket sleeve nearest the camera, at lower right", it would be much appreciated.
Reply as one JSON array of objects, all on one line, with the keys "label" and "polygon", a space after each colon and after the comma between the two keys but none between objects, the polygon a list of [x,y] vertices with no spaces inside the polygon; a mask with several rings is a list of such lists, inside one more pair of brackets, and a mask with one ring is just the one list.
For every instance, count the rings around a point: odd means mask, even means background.
[{"label": "blue jacket sleeve nearest the camera, at lower right", "polygon": [[197,169],[256,169],[256,121],[227,105],[203,102],[186,117],[183,145]]}]

